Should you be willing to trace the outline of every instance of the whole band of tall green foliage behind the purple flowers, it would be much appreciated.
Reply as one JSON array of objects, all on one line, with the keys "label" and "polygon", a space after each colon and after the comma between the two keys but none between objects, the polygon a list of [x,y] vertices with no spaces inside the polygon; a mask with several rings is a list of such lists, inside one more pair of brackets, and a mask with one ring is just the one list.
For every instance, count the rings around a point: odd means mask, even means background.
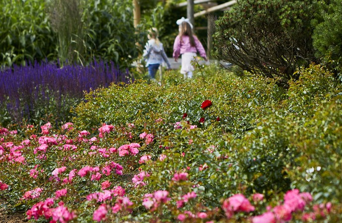
[{"label": "whole band of tall green foliage behind the purple flowers", "polygon": [[82,65],[101,58],[126,68],[138,55],[129,1],[12,0],[0,6],[1,66],[59,57]]}]

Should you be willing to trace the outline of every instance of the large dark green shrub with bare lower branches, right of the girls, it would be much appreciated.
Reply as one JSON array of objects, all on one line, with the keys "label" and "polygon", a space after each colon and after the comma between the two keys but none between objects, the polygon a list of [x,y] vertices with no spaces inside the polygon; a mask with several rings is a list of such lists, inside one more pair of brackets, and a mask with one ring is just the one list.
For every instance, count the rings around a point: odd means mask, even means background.
[{"label": "large dark green shrub with bare lower branches, right of the girls", "polygon": [[314,60],[312,0],[240,0],[217,21],[217,58],[252,74],[280,78],[286,86],[295,69]]}]

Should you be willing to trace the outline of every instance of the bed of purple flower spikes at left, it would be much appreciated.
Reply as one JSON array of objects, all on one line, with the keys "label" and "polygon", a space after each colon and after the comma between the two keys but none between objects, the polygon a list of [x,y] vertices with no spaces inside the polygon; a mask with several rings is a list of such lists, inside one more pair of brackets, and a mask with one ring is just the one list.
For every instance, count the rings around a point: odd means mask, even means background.
[{"label": "bed of purple flower spikes at left", "polygon": [[69,110],[61,108],[67,106],[66,99],[80,100],[84,91],[106,88],[111,83],[134,81],[127,69],[119,70],[113,61],[94,61],[85,67],[65,65],[62,68],[48,62],[29,63],[0,70],[0,80],[0,105],[15,121],[30,120],[37,107],[51,107],[52,103],[57,112]]}]

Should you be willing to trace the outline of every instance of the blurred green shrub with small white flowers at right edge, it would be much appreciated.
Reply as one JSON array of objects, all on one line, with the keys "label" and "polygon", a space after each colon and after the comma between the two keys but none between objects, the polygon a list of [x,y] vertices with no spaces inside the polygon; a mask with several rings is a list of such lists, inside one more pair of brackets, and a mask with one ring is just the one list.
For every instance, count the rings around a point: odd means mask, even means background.
[{"label": "blurred green shrub with small white flowers at right edge", "polygon": [[323,102],[298,129],[293,147],[301,154],[293,169],[293,186],[312,191],[318,201],[341,201],[341,96]]}]

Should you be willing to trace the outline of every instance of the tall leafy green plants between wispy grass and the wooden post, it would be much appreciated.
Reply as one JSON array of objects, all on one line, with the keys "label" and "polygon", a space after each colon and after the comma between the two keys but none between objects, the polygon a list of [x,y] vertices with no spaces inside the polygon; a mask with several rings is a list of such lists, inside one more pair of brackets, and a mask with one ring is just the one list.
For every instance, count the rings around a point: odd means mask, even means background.
[{"label": "tall leafy green plants between wispy grass and the wooden post", "polygon": [[83,25],[87,60],[100,57],[129,67],[138,54],[136,30],[130,1],[86,0],[83,4]]}]

